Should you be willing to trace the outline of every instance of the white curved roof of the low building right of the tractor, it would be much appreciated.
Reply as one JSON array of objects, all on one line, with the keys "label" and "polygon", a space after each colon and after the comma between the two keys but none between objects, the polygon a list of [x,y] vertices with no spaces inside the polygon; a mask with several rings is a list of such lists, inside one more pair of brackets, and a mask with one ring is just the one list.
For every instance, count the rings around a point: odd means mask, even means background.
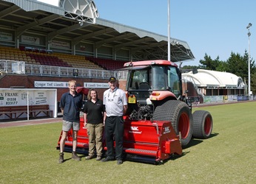
[{"label": "white curved roof of the low building right of the tractor", "polygon": [[192,81],[201,88],[246,88],[241,77],[228,72],[198,69],[182,74],[183,79]]}]

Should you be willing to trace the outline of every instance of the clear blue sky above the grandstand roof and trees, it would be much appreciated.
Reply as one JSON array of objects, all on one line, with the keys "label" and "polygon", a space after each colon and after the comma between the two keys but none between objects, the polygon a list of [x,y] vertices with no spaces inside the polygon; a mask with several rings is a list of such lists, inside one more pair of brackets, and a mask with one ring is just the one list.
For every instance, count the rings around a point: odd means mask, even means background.
[{"label": "clear blue sky above the grandstand roof and trees", "polygon": [[[47,2],[47,0],[41,0]],[[55,0],[51,0],[53,3]],[[73,0],[76,1],[76,0]],[[99,17],[161,35],[168,35],[168,0],[94,0]],[[195,60],[184,65],[198,66],[208,54],[227,60],[231,52],[256,57],[255,0],[170,0],[171,38],[189,44]]]}]

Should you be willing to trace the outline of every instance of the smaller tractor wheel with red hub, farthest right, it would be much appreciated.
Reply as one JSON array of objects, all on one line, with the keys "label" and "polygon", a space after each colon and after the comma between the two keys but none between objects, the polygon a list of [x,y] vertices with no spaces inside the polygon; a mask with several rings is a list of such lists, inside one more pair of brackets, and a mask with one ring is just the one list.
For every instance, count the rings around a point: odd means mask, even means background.
[{"label": "smaller tractor wheel with red hub, farthest right", "polygon": [[212,115],[206,110],[193,113],[193,137],[209,138],[212,133]]}]

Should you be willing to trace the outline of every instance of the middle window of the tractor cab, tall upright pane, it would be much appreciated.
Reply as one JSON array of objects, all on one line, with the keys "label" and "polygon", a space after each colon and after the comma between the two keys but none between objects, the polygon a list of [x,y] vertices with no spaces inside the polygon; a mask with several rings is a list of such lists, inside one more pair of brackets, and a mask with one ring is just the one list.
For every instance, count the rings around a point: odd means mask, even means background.
[{"label": "middle window of the tractor cab, tall upright pane", "polygon": [[153,69],[153,90],[166,90],[165,66],[154,66]]}]

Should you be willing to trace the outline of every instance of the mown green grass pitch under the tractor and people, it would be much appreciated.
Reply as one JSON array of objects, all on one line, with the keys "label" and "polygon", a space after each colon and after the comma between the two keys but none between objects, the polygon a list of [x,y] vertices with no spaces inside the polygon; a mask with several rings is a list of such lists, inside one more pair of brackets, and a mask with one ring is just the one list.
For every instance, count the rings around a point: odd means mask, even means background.
[{"label": "mown green grass pitch under the tractor and people", "polygon": [[[0,183],[255,183],[256,102],[194,107],[213,117],[212,137],[193,139],[163,165],[58,163],[61,122],[0,129]],[[64,159],[71,153],[64,153]]]}]

